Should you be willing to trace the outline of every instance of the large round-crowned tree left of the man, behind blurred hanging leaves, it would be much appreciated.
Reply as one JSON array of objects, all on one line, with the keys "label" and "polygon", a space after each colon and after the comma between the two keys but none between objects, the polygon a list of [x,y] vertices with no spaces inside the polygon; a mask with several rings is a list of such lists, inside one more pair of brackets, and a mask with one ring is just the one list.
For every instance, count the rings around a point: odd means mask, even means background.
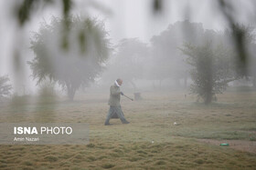
[{"label": "large round-crowned tree left of the man, behind blurred hanging leaves", "polygon": [[[109,56],[109,40],[101,23],[79,16],[69,17],[69,32],[62,25],[66,20],[52,17],[48,25],[43,23],[31,40],[35,58],[28,62],[37,85],[46,78],[57,82],[73,100],[80,86],[89,85],[101,74]],[[69,45],[63,48],[59,41],[63,32]]]}]

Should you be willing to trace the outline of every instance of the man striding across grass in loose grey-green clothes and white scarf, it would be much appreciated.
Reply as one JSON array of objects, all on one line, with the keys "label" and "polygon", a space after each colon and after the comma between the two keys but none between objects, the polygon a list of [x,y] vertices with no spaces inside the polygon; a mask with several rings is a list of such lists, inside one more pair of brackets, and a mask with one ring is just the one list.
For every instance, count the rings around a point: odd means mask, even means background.
[{"label": "man striding across grass in loose grey-green clothes and white scarf", "polygon": [[114,82],[114,85],[111,86],[111,94],[109,99],[110,110],[107,115],[105,125],[110,125],[110,119],[115,114],[121,119],[123,124],[129,124],[129,122],[124,118],[123,110],[120,105],[120,95],[123,95],[123,92],[120,92],[120,86],[122,84],[123,80],[118,78]]}]

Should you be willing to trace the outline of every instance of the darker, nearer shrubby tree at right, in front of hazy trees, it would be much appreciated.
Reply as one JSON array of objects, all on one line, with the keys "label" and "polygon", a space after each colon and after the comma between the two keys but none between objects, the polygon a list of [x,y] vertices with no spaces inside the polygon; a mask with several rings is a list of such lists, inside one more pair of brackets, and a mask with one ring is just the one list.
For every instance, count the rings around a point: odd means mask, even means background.
[{"label": "darker, nearer shrubby tree at right, in front of hazy trees", "polygon": [[222,93],[230,81],[234,80],[232,52],[223,45],[184,45],[182,52],[188,56],[187,64],[192,66],[190,75],[194,84],[190,91],[203,98],[206,105],[216,94]]}]

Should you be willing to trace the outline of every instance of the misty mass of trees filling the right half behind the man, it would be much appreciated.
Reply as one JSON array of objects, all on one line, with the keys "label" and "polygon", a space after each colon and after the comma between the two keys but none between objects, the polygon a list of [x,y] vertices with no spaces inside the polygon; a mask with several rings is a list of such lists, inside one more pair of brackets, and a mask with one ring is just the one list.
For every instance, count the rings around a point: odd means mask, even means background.
[{"label": "misty mass of trees filling the right half behind the man", "polygon": [[[202,24],[188,20],[169,25],[160,35],[146,45],[136,38],[124,39],[116,45],[112,63],[106,74],[122,75],[135,88],[135,80],[147,79],[162,82],[191,78],[192,94],[197,94],[205,104],[216,99],[229,82],[247,77],[256,80],[256,55],[253,28],[237,25],[244,35],[246,51],[251,64],[244,68],[233,41],[238,30],[223,32],[205,30]],[[112,77],[114,78],[114,77]],[[161,83],[160,83],[161,84]]]}]

